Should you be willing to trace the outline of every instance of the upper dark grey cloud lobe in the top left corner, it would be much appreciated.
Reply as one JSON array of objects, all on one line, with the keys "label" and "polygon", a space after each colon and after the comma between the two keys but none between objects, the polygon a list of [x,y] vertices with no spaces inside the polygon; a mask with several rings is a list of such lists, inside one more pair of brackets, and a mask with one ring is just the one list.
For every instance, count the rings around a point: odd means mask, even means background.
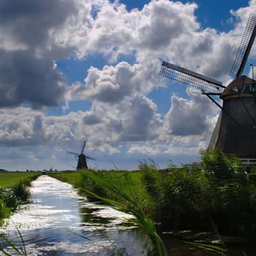
[{"label": "upper dark grey cloud lobe in the top left corner", "polygon": [[15,42],[31,47],[44,45],[51,39],[49,29],[60,27],[77,10],[75,1],[2,0],[0,26],[11,33]]}]

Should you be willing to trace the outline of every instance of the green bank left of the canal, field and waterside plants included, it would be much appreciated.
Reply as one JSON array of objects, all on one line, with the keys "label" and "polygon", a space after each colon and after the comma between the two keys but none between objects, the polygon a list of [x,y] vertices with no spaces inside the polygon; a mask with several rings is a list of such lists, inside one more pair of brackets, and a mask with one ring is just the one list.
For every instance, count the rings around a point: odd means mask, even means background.
[{"label": "green bank left of the canal, field and waterside plants included", "polygon": [[28,186],[39,175],[38,172],[0,172],[0,225],[28,201]]}]

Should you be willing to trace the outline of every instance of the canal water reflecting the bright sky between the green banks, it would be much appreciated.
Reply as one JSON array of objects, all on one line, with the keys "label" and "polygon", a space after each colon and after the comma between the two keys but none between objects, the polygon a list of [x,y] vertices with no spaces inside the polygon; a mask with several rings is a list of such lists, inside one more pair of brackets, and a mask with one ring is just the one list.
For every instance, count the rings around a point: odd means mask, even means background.
[{"label": "canal water reflecting the bright sky between the green banks", "polygon": [[[120,250],[124,256],[143,256],[152,252],[148,237],[127,223],[132,216],[88,202],[67,183],[42,175],[32,182],[30,191],[33,202],[13,214],[6,227],[0,230],[19,245],[20,239],[15,232],[19,228],[27,255],[112,256]],[[163,239],[171,256],[220,255],[198,250],[167,234]],[[254,256],[254,247],[229,246],[230,255]],[[8,249],[8,252],[17,255],[13,250]],[[4,254],[0,252],[0,255]]]}]

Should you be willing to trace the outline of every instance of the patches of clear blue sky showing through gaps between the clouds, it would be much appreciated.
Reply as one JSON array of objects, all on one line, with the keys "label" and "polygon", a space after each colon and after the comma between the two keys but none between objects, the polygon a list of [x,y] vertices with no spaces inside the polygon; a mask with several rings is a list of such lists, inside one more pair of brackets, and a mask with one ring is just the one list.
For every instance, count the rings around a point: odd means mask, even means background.
[{"label": "patches of clear blue sky showing through gaps between the clouds", "polygon": [[[191,3],[191,1],[181,1],[182,3]],[[196,19],[200,22],[202,28],[215,28],[219,31],[229,31],[234,27],[234,24],[228,22],[228,19],[232,17],[230,15],[230,10],[237,10],[237,8],[245,7],[248,5],[246,1],[229,1],[228,4],[223,4],[223,1],[195,1],[198,4],[198,8],[195,11]],[[143,9],[145,4],[150,3],[150,1],[120,1],[120,3],[125,4],[127,10],[132,10],[133,8]],[[122,56],[119,61],[127,61],[131,64],[134,63],[133,56]],[[58,67],[67,76],[68,84],[74,81],[83,82],[84,77],[87,75],[87,70],[91,66],[102,68],[104,67],[106,60],[100,55],[95,54],[89,56],[86,60],[78,61],[76,59],[68,59],[58,61]],[[246,69],[248,70],[248,68]],[[172,93],[179,93],[181,97],[187,97],[186,92],[183,88],[180,88],[182,84],[173,84],[168,88],[157,88],[152,91],[148,97],[152,99],[158,107],[158,111],[161,114],[166,114],[170,108],[170,95]],[[91,102],[72,102],[70,105],[70,111],[77,111],[79,109],[90,109],[92,106]],[[61,108],[49,109],[47,113],[61,114]]]}]

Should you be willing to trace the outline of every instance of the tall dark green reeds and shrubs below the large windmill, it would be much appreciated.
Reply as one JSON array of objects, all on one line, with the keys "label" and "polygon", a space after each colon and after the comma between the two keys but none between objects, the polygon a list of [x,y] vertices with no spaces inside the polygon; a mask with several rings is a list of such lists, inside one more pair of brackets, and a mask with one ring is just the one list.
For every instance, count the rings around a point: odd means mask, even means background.
[{"label": "tall dark green reeds and shrubs below the large windmill", "polygon": [[162,230],[209,230],[223,234],[255,236],[255,175],[218,149],[202,152],[202,162],[190,170],[170,166],[161,173],[141,164],[141,184],[154,206],[150,216]]}]

